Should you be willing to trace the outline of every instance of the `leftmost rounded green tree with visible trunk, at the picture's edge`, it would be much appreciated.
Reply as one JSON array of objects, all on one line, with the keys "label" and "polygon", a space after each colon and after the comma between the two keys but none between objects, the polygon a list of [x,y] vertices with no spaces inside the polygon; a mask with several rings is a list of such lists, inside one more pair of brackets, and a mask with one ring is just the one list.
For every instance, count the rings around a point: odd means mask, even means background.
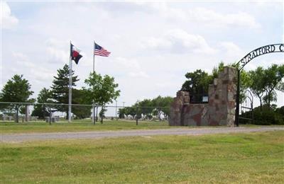
[{"label": "leftmost rounded green tree with visible trunk, at the picture's edge", "polygon": [[[29,99],[29,97],[32,94],[33,91],[31,91],[31,84],[28,83],[28,80],[23,79],[23,75],[14,75],[12,79],[7,81],[2,89],[1,101],[18,103],[30,102],[32,99]],[[16,122],[18,122],[18,110],[20,107],[21,105],[18,104],[15,106],[6,106],[6,108],[16,110]]]}]

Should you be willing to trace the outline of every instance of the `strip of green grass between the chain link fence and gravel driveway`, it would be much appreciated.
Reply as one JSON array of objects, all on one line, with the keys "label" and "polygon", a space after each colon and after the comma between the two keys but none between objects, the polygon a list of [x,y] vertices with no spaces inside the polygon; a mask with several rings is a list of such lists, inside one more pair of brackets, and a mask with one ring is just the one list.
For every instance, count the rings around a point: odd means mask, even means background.
[{"label": "strip of green grass between the chain link fence and gravel driveway", "polygon": [[103,130],[137,130],[170,128],[168,122],[146,122],[122,120],[106,120],[103,124],[97,122],[93,125],[91,120],[74,120],[73,122],[0,122],[1,134],[6,133],[30,133],[30,132],[79,132],[79,131],[103,131]]}]

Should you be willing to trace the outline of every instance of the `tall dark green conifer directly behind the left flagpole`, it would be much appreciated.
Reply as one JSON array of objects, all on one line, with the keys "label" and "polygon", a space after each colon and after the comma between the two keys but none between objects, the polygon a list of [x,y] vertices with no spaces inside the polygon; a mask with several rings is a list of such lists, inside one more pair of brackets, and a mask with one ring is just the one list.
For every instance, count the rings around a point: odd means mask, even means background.
[{"label": "tall dark green conifer directly behind the left flagpole", "polygon": [[[54,103],[69,103],[69,67],[67,64],[64,65],[62,69],[58,69],[58,75],[53,76],[53,85],[51,90],[53,93]],[[74,76],[74,71],[72,70],[72,86],[76,86],[75,82],[79,81],[78,76]],[[74,101],[72,100],[72,103]],[[66,112],[66,119],[68,118],[68,106],[58,105],[56,107],[61,112]]]}]

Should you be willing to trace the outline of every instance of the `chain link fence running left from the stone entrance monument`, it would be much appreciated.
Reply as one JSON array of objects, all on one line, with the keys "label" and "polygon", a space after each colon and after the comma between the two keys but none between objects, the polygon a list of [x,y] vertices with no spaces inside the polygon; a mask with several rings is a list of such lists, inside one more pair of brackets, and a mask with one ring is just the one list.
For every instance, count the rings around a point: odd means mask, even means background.
[{"label": "chain link fence running left from the stone entrance monument", "polygon": [[[72,104],[72,122],[168,120],[170,107]],[[0,102],[0,122],[68,122],[68,104]]]}]

